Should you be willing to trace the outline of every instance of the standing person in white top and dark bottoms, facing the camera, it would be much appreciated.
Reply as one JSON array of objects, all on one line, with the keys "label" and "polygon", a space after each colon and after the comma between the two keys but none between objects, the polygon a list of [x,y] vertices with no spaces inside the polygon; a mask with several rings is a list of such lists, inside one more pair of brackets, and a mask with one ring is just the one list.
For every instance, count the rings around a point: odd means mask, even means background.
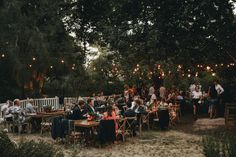
[{"label": "standing person in white top and dark bottoms, facing the camera", "polygon": [[196,86],[195,90],[192,93],[193,97],[193,116],[194,120],[197,120],[197,112],[199,109],[199,102],[202,100],[202,92],[200,91],[199,87]]}]

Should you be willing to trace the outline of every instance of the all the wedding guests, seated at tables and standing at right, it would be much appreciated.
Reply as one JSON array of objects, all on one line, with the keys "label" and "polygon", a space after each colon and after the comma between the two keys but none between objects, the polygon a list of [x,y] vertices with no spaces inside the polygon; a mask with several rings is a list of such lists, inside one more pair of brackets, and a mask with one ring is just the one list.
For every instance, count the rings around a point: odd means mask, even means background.
[{"label": "all the wedding guests, seated at tables and standing at right", "polygon": [[[116,122],[119,116],[135,116],[137,114],[147,114],[150,111],[156,111],[160,108],[168,109],[172,120],[177,118],[176,110],[173,106],[180,105],[180,108],[186,105],[188,99],[193,105],[194,120],[197,120],[199,107],[202,104],[208,104],[208,113],[210,118],[214,118],[219,112],[219,104],[222,102],[224,89],[218,81],[214,81],[207,90],[203,90],[198,82],[190,85],[188,91],[181,91],[172,86],[170,89],[161,84],[158,88],[151,85],[149,88],[142,85],[137,88],[135,85],[130,87],[124,86],[124,92],[121,95],[104,96],[103,93],[93,95],[86,100],[80,99],[67,106],[65,113],[68,119],[114,119]],[[15,99],[13,102],[8,100],[2,107],[1,112],[6,122],[17,121],[24,123],[28,119],[28,114],[36,113],[33,99],[29,99],[26,107],[20,106],[20,100]],[[38,130],[40,122],[31,121],[32,127]],[[117,124],[116,124],[117,128]]]}]

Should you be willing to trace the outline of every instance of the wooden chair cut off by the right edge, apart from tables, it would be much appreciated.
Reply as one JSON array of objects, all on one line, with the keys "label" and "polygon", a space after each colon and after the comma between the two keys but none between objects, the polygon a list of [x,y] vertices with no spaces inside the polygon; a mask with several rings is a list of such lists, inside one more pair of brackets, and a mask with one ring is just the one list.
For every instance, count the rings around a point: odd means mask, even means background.
[{"label": "wooden chair cut off by the right edge, apart from tables", "polygon": [[227,103],[225,107],[226,128],[229,129],[231,124],[236,124],[236,103]]}]

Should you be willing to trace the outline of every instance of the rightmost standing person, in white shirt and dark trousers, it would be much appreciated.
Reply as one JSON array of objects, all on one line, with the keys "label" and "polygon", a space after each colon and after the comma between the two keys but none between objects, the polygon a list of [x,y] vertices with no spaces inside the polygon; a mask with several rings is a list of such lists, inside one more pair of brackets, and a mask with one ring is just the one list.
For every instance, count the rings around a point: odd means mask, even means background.
[{"label": "rightmost standing person, in white shirt and dark trousers", "polygon": [[217,91],[217,104],[216,104],[216,113],[218,115],[222,115],[222,113],[224,114],[224,107],[223,107],[223,93],[224,93],[224,89],[223,87],[219,84],[218,80],[214,81],[215,84],[215,89]]}]

